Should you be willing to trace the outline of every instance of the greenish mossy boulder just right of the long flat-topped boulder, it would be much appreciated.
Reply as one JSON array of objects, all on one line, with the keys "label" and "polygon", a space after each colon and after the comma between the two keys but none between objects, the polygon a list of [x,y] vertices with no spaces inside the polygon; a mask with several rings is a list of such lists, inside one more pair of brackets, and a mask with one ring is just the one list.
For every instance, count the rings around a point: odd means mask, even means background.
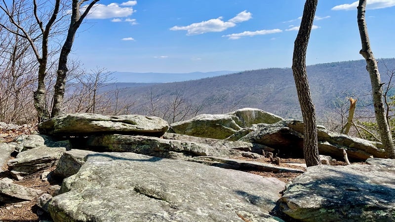
[{"label": "greenish mossy boulder just right of the long flat-topped boulder", "polygon": [[177,134],[212,139],[226,139],[241,129],[229,114],[201,114],[196,117],[170,124]]}]

